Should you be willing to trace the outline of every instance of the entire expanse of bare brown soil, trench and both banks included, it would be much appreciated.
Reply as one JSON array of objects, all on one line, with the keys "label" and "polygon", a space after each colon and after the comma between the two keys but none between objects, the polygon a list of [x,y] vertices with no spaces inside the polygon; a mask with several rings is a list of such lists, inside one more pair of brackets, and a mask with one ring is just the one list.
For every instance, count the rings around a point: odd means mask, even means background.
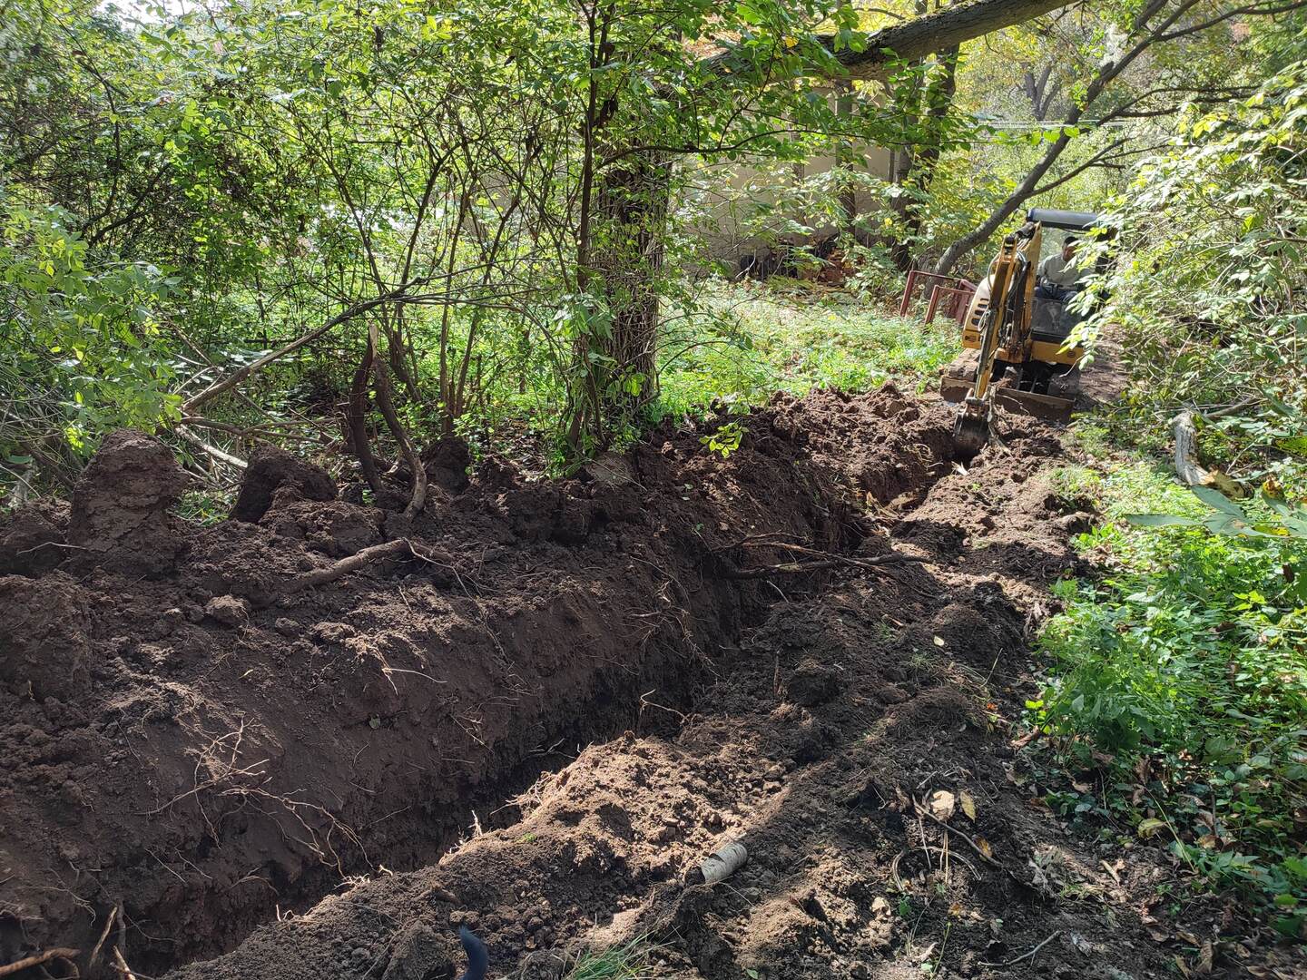
[{"label": "entire expanse of bare brown soil, trench and both banks included", "polygon": [[[71,515],[0,529],[0,962],[116,908],[132,967],[186,980],[452,977],[460,923],[498,976],[635,937],[708,980],[1168,972],[1163,857],[1106,870],[1009,745],[1076,566],[1055,435],[1009,419],[958,472],[948,409],[893,388],[746,430],[561,482],[464,485],[444,447],[413,527],[268,455],[254,523],[207,529],[118,436]],[[693,883],[728,840],[745,868]]]}]

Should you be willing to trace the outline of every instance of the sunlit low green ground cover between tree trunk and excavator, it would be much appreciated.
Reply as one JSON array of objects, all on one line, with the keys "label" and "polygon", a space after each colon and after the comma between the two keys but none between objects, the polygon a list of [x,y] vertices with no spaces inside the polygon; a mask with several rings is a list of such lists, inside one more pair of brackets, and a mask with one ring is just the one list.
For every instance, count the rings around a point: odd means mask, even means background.
[{"label": "sunlit low green ground cover between tree trunk and excavator", "polygon": [[924,325],[805,284],[710,281],[697,301],[698,311],[668,321],[660,378],[665,414],[714,401],[757,405],[778,391],[863,392],[891,378],[928,387],[961,349],[953,320]]}]

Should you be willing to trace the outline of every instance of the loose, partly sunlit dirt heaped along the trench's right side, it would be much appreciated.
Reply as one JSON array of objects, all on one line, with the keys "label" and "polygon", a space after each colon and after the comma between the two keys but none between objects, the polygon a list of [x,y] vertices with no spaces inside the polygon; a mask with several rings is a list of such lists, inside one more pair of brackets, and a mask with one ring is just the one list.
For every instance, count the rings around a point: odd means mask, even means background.
[{"label": "loose, partly sunlit dirt heaped along the trench's right side", "polygon": [[[870,423],[869,439],[846,405],[867,408],[814,397],[769,431],[823,419],[789,442],[808,434],[833,480],[881,500],[918,490],[915,511],[853,553],[893,544],[919,561],[847,563],[816,593],[778,572],[740,648],[708,653],[716,679],[670,711],[674,733],[633,725],[592,745],[516,798],[512,826],[359,882],[179,980],[447,979],[463,967],[459,925],[488,941],[495,973],[554,980],[583,950],[630,942],[652,949],[660,976],[710,980],[1168,972],[1137,911],[1154,858],[1104,870],[1033,809],[1002,727],[1022,696],[1026,613],[1013,597],[1076,562],[1036,474],[1056,443],[1012,433],[1010,448],[946,474],[925,439],[907,474],[873,473],[861,449],[893,426]],[[819,436],[827,421],[843,435]],[[840,438],[859,451],[839,452]],[[902,443],[884,446],[902,461]],[[650,704],[646,717],[667,713]],[[729,841],[745,866],[695,883]],[[1100,900],[1068,906],[1069,890]]]}]

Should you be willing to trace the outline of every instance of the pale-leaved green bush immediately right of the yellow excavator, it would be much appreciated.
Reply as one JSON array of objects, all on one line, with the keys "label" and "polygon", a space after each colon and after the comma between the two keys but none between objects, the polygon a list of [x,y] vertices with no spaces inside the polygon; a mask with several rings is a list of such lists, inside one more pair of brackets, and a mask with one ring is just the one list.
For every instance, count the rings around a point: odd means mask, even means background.
[{"label": "pale-leaved green bush immediately right of the yellow excavator", "polygon": [[1128,337],[1136,423],[1221,408],[1204,452],[1253,480],[1307,472],[1304,132],[1300,60],[1248,99],[1184,114],[1171,149],[1115,203],[1119,260],[1085,327],[1089,340],[1108,323]]}]

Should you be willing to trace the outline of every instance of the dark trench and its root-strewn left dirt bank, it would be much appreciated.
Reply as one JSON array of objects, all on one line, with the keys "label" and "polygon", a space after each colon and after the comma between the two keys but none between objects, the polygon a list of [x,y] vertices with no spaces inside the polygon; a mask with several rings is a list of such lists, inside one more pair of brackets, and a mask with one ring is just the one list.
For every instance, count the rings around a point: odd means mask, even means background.
[{"label": "dark trench and its root-strewn left dirt bank", "polygon": [[158,975],[528,815],[503,801],[578,747],[676,730],[778,596],[887,554],[864,512],[919,504],[949,427],[887,387],[778,399],[728,460],[668,427],[576,480],[468,481],[443,446],[412,525],[264,452],[210,528],[115,434],[71,507],[0,528],[0,962],[103,971],[108,930]]}]

